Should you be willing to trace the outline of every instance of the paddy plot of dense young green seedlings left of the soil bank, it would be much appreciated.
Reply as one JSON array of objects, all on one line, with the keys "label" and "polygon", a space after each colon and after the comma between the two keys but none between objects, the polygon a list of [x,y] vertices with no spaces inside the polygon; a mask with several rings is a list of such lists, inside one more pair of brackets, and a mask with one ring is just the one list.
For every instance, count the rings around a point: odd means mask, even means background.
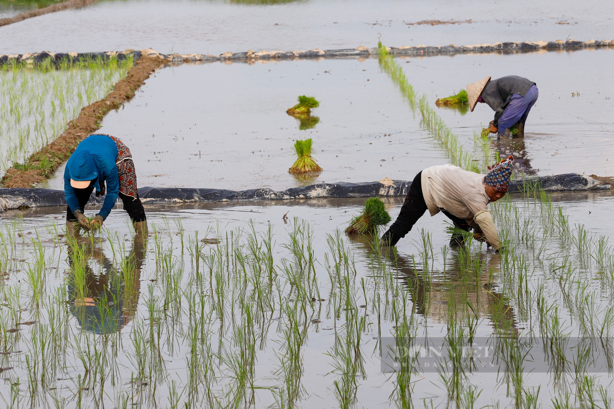
[{"label": "paddy plot of dense young green seedlings left of the soil bank", "polygon": [[126,77],[131,59],[0,67],[0,176],[57,139],[80,110]]}]

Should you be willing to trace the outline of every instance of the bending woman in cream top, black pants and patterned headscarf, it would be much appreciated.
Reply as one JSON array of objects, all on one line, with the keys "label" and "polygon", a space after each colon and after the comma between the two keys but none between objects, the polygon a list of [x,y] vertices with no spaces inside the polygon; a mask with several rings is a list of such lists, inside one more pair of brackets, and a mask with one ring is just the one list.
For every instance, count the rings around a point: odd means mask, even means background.
[{"label": "bending woman in cream top, black pants and patterned headscarf", "polygon": [[512,156],[489,168],[488,175],[453,164],[427,167],[411,182],[397,220],[384,233],[382,242],[396,245],[429,210],[431,216],[443,212],[459,229],[473,229],[476,238],[499,250],[499,235],[487,206],[505,196],[513,168]]}]

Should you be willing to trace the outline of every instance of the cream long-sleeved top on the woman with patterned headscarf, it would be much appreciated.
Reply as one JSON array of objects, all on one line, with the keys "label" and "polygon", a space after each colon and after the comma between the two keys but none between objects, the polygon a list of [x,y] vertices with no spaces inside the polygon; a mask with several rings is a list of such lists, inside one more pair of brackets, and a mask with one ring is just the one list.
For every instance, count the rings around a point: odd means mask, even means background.
[{"label": "cream long-sleeved top on the woman with patterned headscarf", "polygon": [[440,210],[475,221],[495,250],[499,248],[499,235],[486,208],[490,198],[484,188],[486,175],[462,170],[453,164],[431,166],[422,170],[422,194],[431,216]]}]

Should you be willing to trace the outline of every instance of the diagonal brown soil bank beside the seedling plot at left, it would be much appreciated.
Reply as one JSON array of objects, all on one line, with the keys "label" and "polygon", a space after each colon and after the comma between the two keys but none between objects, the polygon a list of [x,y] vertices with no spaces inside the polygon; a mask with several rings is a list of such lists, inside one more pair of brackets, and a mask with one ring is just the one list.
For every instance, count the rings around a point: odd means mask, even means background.
[{"label": "diagonal brown soil bank beside the seedling plot at left", "polygon": [[79,142],[100,128],[104,115],[130,101],[134,91],[164,63],[159,57],[142,56],[128,71],[126,78],[115,84],[109,95],[84,107],[79,117],[68,123],[68,129],[58,139],[34,152],[25,164],[14,164],[14,167],[6,171],[0,185],[5,188],[31,188],[51,177],[68,160]]}]

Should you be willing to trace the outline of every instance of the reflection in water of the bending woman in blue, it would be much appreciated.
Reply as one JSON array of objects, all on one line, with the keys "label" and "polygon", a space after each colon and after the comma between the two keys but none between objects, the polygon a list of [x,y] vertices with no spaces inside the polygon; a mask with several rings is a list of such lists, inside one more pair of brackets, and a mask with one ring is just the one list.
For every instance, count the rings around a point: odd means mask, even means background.
[{"label": "reflection in water of the bending woman in blue", "polygon": [[130,254],[122,255],[115,266],[95,239],[70,232],[66,238],[72,315],[85,331],[96,334],[120,331],[136,313],[147,235],[136,234]]}]

